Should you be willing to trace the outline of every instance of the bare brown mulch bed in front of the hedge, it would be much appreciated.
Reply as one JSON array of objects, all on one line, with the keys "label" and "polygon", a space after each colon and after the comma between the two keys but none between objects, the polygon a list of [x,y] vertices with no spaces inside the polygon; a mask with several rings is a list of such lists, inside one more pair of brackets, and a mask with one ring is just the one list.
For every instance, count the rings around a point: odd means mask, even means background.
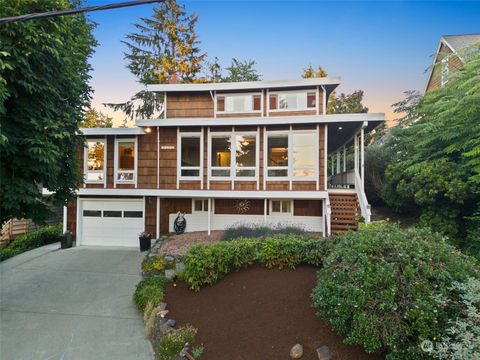
[{"label": "bare brown mulch bed in front of the hedge", "polygon": [[315,349],[322,345],[335,360],[383,359],[343,344],[315,316],[310,300],[315,282],[313,267],[267,270],[255,265],[198,293],[183,282],[176,287],[169,283],[168,317],[198,328],[195,345],[205,348],[202,360],[287,360],[296,343],[303,345],[302,360],[318,360]]}]

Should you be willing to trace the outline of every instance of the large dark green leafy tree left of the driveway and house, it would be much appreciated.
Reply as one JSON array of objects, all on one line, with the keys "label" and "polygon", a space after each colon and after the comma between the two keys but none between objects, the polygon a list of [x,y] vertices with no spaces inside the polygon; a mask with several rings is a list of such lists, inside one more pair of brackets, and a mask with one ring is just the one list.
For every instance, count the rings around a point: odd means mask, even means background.
[{"label": "large dark green leafy tree left of the driveway and house", "polygon": [[[69,9],[76,0],[0,0],[0,17]],[[96,45],[84,15],[0,26],[0,223],[42,222],[51,200],[66,204],[81,181],[77,129],[90,103],[88,58]]]}]

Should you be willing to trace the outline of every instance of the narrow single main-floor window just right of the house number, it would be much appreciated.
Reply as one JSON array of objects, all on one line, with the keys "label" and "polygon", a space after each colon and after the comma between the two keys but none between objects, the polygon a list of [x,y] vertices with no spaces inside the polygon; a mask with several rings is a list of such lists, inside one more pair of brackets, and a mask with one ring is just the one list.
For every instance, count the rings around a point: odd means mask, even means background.
[{"label": "narrow single main-floor window just right of the house number", "polygon": [[200,134],[180,135],[180,176],[182,178],[200,177],[201,136]]}]

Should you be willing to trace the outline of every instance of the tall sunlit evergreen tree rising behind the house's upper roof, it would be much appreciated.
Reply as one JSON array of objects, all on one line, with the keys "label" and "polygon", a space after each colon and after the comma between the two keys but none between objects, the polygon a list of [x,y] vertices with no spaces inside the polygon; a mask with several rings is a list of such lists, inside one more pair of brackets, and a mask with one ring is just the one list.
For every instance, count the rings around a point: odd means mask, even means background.
[{"label": "tall sunlit evergreen tree rising behind the house's upper roof", "polygon": [[[206,54],[198,47],[196,15],[188,15],[183,5],[166,0],[156,6],[151,18],[134,24],[137,32],[127,35],[125,59],[142,85],[163,84],[176,74],[181,82],[194,82]],[[125,112],[127,117],[152,117],[163,110],[163,96],[142,90],[130,101],[105,104]]]}]

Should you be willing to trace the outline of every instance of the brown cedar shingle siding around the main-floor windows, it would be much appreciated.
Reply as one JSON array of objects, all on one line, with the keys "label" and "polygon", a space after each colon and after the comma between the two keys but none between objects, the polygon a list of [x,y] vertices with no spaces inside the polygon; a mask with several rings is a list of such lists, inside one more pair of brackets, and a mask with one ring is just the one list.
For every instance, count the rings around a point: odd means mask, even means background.
[{"label": "brown cedar shingle siding around the main-floor windows", "polygon": [[[315,191],[317,190],[315,180],[293,180],[292,187],[290,189],[289,182],[284,180],[274,180],[270,178],[266,181],[266,187],[264,189],[264,177],[266,176],[264,169],[264,134],[265,131],[275,130],[288,130],[289,127],[285,126],[236,126],[233,127],[235,132],[253,132],[257,133],[259,137],[256,139],[258,142],[258,161],[257,169],[259,171],[258,186],[257,181],[243,180],[242,178],[234,178],[232,181],[215,180],[210,178],[210,184],[208,184],[208,134],[215,132],[231,132],[232,127],[220,127],[220,128],[182,128],[179,127],[178,131],[189,133],[198,133],[200,136],[203,133],[203,187],[200,180],[179,180],[178,189],[181,190],[304,190]],[[325,130],[324,125],[318,126],[318,132],[316,126],[310,124],[298,124],[292,126],[292,130],[308,130],[315,132],[318,136],[318,190],[325,189]],[[202,131],[203,130],[203,131]],[[157,142],[157,131],[159,148]],[[104,139],[105,137],[88,137],[87,139]],[[122,137],[117,136],[117,139]],[[133,138],[133,137],[124,137]],[[85,183],[81,185],[83,188],[107,188],[107,189],[177,189],[177,127],[152,127],[151,132],[144,135],[139,135],[137,138],[137,184],[134,183],[117,183],[114,185],[115,177],[115,136],[106,136],[106,171],[105,171],[105,183],[92,184]],[[159,154],[159,159],[157,155]],[[80,168],[84,169],[84,148],[78,151],[78,158],[80,162]],[[159,172],[159,178],[157,174]],[[158,186],[157,186],[158,184]]]}]

